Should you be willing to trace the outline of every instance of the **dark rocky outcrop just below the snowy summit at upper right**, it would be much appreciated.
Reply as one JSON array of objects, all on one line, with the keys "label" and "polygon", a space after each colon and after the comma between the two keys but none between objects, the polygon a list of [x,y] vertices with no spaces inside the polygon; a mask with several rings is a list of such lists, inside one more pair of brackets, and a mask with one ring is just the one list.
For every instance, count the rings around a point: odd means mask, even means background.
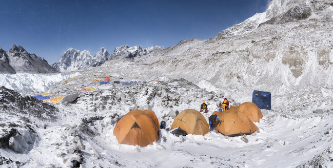
[{"label": "dark rocky outcrop just below the snowy summit at upper right", "polygon": [[307,19],[311,14],[312,14],[311,8],[305,4],[301,4],[289,9],[286,13],[282,15],[267,20],[266,22],[260,24],[259,27],[265,24],[276,25],[276,24],[294,22],[297,20],[303,20]]}]

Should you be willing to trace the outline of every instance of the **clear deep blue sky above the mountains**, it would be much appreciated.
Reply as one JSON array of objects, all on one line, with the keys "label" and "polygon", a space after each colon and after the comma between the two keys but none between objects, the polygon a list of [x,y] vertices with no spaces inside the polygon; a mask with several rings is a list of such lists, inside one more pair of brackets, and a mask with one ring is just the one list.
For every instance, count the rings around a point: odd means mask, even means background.
[{"label": "clear deep blue sky above the mountains", "polygon": [[56,62],[70,47],[94,55],[122,45],[170,47],[207,39],[264,12],[268,0],[16,1],[0,0],[0,46],[13,44]]}]

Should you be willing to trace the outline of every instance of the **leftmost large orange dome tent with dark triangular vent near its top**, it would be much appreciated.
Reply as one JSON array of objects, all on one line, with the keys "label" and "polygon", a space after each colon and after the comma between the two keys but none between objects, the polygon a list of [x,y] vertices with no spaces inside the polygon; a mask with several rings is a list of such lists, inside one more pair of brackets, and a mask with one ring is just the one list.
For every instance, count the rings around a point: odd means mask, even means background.
[{"label": "leftmost large orange dome tent with dark triangular vent near its top", "polygon": [[150,110],[128,112],[115,125],[113,135],[121,144],[141,147],[159,140],[160,123]]}]

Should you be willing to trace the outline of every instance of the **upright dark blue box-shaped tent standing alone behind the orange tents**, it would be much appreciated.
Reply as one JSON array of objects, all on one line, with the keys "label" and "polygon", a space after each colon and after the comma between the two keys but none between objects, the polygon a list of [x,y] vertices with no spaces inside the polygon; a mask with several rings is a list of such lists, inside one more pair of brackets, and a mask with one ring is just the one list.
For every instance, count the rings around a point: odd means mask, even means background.
[{"label": "upright dark blue box-shaped tent standing alone behind the orange tents", "polygon": [[258,106],[259,109],[270,110],[270,92],[256,91],[252,93],[252,102]]}]

